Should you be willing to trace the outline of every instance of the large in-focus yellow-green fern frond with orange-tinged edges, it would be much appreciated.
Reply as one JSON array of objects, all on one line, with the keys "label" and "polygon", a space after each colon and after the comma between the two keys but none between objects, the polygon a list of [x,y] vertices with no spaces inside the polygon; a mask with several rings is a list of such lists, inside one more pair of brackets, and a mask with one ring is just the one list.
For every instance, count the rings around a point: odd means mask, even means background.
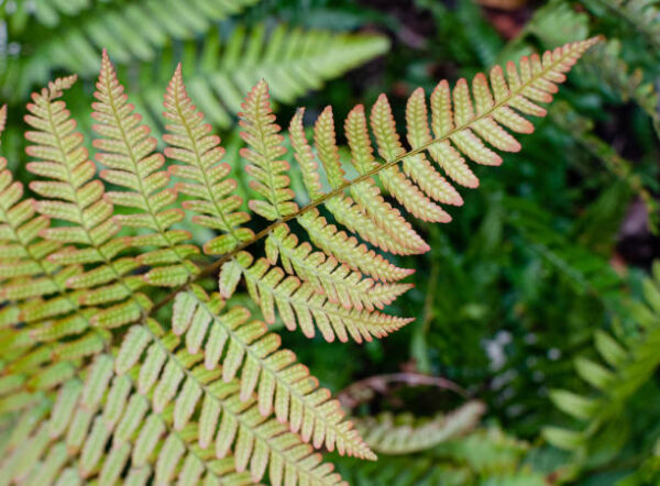
[{"label": "large in-focus yellow-green fern frond with orange-tinged edges", "polygon": [[[448,222],[442,206],[462,205],[453,184],[479,185],[466,158],[498,165],[494,148],[519,150],[510,132],[532,131],[521,114],[544,115],[538,103],[595,42],[522,57],[506,76],[495,67],[472,90],[441,81],[430,125],[416,90],[407,144],[385,96],[369,113],[358,106],[343,125],[348,159],[332,109],[312,142],[299,110],[287,134],[307,195],[289,187],[262,80],[240,113],[250,212],[180,68],[165,95],[164,154],[106,54],[94,161],[61,99],[75,77],[34,93],[25,121],[35,198],[22,197],[4,161],[0,173],[0,483],[336,484],[317,451],[375,460],[266,324],[278,316],[310,338],[362,342],[410,322],[383,311],[410,287],[400,281],[410,270],[384,253],[428,250],[404,213]],[[198,246],[190,224],[216,235]],[[265,256],[254,250],[262,240]],[[265,323],[232,298],[240,285]]]}]

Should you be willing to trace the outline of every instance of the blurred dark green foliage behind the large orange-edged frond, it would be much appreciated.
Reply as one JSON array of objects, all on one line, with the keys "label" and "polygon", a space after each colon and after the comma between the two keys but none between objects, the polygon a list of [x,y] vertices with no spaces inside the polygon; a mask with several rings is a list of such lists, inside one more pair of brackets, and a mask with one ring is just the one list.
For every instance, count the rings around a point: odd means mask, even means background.
[{"label": "blurred dark green foliage behind the large orange-edged frond", "polygon": [[[231,153],[238,103],[262,77],[285,115],[299,104],[311,113],[332,104],[339,120],[384,91],[403,120],[417,86],[428,91],[441,78],[604,35],[522,152],[502,170],[477,168],[481,190],[463,194],[451,224],[418,225],[432,250],[402,258],[417,268],[416,288],[393,310],[416,316],[414,324],[362,345],[283,339],[323,386],[344,390],[342,402],[385,459],[333,457],[355,484],[660,481],[653,1],[156,3],[3,3],[0,96],[10,120],[2,148],[19,178],[31,180],[21,121],[29,93],[78,73],[84,82],[68,102],[89,119],[100,47],[141,93],[139,109],[156,131],[161,93],[182,60],[190,96]],[[233,170],[244,179],[242,167]],[[457,416],[477,404],[469,400],[483,405]],[[435,435],[425,433],[429,422]],[[378,427],[403,434],[399,445],[378,451]],[[411,446],[418,429],[432,438]]]}]

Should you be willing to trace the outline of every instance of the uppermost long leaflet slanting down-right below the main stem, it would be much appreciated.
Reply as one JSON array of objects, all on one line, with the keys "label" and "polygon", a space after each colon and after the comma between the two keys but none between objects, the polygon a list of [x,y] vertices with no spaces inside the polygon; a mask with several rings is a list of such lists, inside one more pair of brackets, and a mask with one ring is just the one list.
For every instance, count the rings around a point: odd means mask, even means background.
[{"label": "uppermost long leaflet slanting down-right below the main stem", "polygon": [[[172,329],[177,335],[185,334],[188,352],[194,355],[201,350],[207,369],[215,369],[221,361],[224,382],[242,368],[241,400],[251,399],[258,389],[261,415],[274,411],[277,420],[288,422],[305,442],[314,439],[317,449],[324,445],[329,451],[337,448],[340,454],[375,459],[352,423],[343,420],[339,402],[329,399],[330,391],[318,388],[308,369],[295,363],[294,353],[279,349],[279,336],[268,333],[258,321],[249,322],[250,312],[244,308],[234,307],[219,316],[223,305],[199,288],[177,296]],[[180,428],[177,417],[183,416],[175,417],[175,427]]]}]

